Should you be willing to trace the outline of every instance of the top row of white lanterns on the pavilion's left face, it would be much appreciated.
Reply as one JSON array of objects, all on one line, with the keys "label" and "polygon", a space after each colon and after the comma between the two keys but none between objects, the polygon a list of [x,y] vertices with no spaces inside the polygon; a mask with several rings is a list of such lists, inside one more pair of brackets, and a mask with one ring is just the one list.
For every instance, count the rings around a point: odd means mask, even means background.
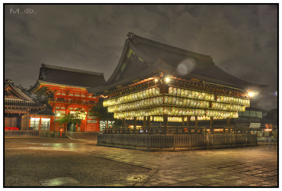
[{"label": "top row of white lanterns on the pavilion's left face", "polygon": [[122,103],[127,103],[127,102],[132,102],[132,101],[137,101],[137,100],[142,100],[142,99],[147,99],[149,97],[155,97],[160,94],[160,88],[150,88],[147,90],[143,90],[140,92],[136,92],[133,94],[113,98],[113,99],[108,99],[103,101],[103,106],[112,106],[112,105],[118,105]]}]

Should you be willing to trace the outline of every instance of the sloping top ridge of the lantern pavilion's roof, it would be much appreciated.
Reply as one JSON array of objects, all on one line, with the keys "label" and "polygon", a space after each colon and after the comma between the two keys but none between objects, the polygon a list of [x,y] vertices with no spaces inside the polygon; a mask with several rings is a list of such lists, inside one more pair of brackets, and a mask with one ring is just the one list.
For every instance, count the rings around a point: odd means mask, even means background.
[{"label": "sloping top ridge of the lantern pavilion's roof", "polygon": [[182,48],[178,48],[176,46],[171,46],[171,45],[167,45],[167,44],[164,44],[164,43],[160,43],[158,41],[154,41],[154,40],[151,40],[151,39],[147,39],[147,38],[144,38],[144,37],[141,37],[141,36],[138,36],[136,34],[133,34],[132,32],[128,32],[128,38],[129,39],[137,39],[139,41],[143,41],[144,43],[147,43],[147,44],[154,44],[154,45],[157,45],[157,46],[160,46],[162,48],[166,48],[166,49],[173,49],[174,51],[178,51],[180,53],[184,53],[184,54],[192,54],[194,56],[201,56],[201,57],[204,57],[206,59],[211,59],[213,60],[213,58],[209,55],[204,55],[204,54],[200,54],[200,53],[197,53],[197,52],[192,52],[190,50],[185,50],[185,49],[182,49]]}]

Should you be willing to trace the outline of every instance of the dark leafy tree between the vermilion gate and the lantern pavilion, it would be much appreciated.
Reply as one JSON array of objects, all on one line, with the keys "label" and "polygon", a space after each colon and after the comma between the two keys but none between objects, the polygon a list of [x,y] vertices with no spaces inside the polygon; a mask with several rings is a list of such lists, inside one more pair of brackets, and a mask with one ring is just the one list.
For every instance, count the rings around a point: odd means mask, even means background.
[{"label": "dark leafy tree between the vermilion gate and the lantern pavilion", "polygon": [[99,120],[110,122],[112,127],[119,126],[121,124],[120,119],[114,118],[114,113],[108,112],[108,107],[104,107],[102,103],[94,105],[88,112],[89,116],[94,116],[92,120]]}]

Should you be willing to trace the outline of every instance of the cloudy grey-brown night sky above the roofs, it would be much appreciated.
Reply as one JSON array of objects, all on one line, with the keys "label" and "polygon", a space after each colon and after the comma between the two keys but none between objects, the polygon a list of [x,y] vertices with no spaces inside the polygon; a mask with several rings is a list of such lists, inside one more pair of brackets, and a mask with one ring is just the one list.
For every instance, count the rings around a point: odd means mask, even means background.
[{"label": "cloudy grey-brown night sky above the roofs", "polygon": [[277,108],[277,5],[5,5],[4,11],[5,79],[15,85],[33,86],[41,63],[103,72],[107,81],[132,32],[210,55],[222,70],[270,85],[251,105]]}]

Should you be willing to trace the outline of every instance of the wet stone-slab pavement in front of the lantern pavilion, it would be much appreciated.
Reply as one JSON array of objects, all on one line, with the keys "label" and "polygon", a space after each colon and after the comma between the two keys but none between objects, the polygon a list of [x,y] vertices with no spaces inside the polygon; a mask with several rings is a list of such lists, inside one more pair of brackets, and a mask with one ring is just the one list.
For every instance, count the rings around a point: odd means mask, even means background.
[{"label": "wet stone-slab pavement in front of the lantern pavilion", "polygon": [[[38,149],[68,150],[152,169],[130,186],[278,186],[277,141],[259,146],[147,152],[89,143],[44,143]],[[122,183],[85,186],[125,186]]]}]

